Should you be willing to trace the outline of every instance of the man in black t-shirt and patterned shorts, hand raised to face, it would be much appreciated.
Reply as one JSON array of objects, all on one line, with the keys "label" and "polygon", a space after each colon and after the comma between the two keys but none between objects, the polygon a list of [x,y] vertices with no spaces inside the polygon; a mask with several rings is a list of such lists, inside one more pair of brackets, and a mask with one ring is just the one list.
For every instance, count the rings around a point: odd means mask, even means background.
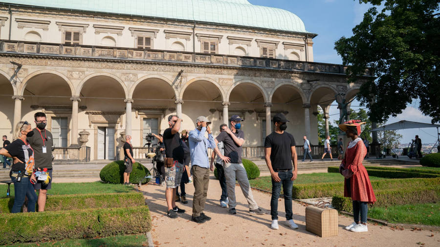
[{"label": "man in black t-shirt and patterned shorts, hand raised to face", "polygon": [[[181,140],[179,137],[181,119],[176,115],[170,115],[168,117],[169,128],[163,132],[163,143],[165,144],[165,182],[167,189],[165,190],[165,198],[167,200],[168,211],[167,215],[170,218],[177,218],[177,213],[184,213],[185,210],[176,206],[175,194],[176,187],[180,185],[182,179],[183,167],[184,167],[184,155]],[[169,163],[168,159],[173,159],[172,165],[167,167]]]}]

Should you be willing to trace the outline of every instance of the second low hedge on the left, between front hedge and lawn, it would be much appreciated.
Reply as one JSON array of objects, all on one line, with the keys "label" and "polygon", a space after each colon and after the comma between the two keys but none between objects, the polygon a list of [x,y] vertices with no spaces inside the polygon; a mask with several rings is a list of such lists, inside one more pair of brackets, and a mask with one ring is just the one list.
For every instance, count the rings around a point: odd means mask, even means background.
[{"label": "second low hedge on the left, between front hedge and lawn", "polygon": [[[14,205],[14,197],[0,199],[0,213],[10,213]],[[142,193],[109,193],[109,194],[80,194],[52,195],[47,197],[45,211],[60,211],[87,208],[112,208],[143,206],[145,199]]]}]

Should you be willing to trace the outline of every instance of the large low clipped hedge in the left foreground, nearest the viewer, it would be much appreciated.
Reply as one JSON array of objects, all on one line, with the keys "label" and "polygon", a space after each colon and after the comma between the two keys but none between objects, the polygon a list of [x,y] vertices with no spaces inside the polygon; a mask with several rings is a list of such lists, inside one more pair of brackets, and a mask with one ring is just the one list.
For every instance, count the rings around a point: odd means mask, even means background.
[{"label": "large low clipped hedge in the left foreground, nearest the viewer", "polygon": [[0,245],[138,234],[151,230],[148,206],[0,214]]}]

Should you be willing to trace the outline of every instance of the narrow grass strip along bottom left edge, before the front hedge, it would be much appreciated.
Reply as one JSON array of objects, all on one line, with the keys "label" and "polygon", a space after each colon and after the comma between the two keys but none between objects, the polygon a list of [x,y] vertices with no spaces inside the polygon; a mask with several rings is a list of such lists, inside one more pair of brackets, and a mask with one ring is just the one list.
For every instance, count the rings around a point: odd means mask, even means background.
[{"label": "narrow grass strip along bottom left edge, before the front hedge", "polygon": [[77,246],[88,246],[88,247],[136,247],[148,245],[147,236],[145,234],[139,235],[124,235],[124,236],[113,236],[107,238],[95,238],[95,239],[66,239],[62,241],[51,241],[45,243],[26,243],[12,245],[12,247],[19,246],[63,246],[63,247],[77,247]]}]

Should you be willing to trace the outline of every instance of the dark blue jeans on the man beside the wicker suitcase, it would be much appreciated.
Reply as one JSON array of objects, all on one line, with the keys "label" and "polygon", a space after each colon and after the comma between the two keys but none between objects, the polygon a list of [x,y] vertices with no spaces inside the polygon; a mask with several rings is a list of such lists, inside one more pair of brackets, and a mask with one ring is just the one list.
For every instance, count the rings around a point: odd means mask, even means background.
[{"label": "dark blue jeans on the man beside the wicker suitcase", "polygon": [[286,209],[286,220],[291,220],[293,216],[292,212],[292,169],[287,171],[279,171],[278,177],[280,182],[275,182],[272,178],[272,198],[270,199],[270,215],[272,220],[278,220],[278,198],[280,198],[281,185],[283,185],[284,192],[284,207]]}]

